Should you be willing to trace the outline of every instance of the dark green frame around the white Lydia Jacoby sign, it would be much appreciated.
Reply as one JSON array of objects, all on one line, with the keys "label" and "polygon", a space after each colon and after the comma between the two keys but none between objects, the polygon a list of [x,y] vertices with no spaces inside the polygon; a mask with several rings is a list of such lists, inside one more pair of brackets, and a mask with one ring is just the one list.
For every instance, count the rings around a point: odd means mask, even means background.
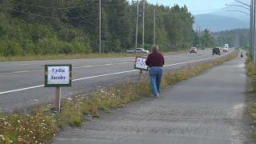
[{"label": "dark green frame around the white Lydia Jacoby sign", "polygon": [[[49,66],[69,66],[70,70],[70,82],[68,84],[48,84],[48,67]],[[63,86],[71,86],[72,83],[72,65],[65,64],[65,65],[45,65],[45,87],[63,87]]]}]

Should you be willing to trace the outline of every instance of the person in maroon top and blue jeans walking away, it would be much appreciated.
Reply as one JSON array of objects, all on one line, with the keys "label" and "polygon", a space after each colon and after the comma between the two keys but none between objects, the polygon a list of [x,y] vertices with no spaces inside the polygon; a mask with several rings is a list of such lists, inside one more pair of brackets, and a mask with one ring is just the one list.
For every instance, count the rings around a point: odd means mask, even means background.
[{"label": "person in maroon top and blue jeans walking away", "polygon": [[162,79],[163,65],[165,59],[158,50],[158,46],[152,46],[152,53],[146,58],[146,65],[150,66],[150,86],[154,98],[159,98],[160,84]]}]

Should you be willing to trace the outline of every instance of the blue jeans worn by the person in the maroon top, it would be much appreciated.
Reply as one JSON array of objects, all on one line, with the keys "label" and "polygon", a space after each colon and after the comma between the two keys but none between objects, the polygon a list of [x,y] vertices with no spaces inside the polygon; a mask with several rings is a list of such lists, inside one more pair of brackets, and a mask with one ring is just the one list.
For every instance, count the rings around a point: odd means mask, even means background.
[{"label": "blue jeans worn by the person in the maroon top", "polygon": [[162,67],[152,66],[150,67],[150,85],[154,95],[160,93],[160,84],[162,79]]}]

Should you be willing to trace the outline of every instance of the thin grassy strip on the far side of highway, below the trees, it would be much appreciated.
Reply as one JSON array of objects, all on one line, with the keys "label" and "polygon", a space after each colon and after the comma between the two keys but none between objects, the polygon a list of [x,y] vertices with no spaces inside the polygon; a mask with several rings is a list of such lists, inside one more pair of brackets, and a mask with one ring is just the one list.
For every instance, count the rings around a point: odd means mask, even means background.
[{"label": "thin grassy strip on the far side of highway, below the trees", "polygon": [[[172,51],[165,54],[182,54],[187,50]],[[78,59],[78,58],[123,58],[146,56],[147,54],[129,54],[129,53],[110,53],[110,54],[53,54],[53,55],[28,55],[17,57],[0,57],[0,62],[12,61],[38,61],[38,60],[56,60],[56,59]]]}]

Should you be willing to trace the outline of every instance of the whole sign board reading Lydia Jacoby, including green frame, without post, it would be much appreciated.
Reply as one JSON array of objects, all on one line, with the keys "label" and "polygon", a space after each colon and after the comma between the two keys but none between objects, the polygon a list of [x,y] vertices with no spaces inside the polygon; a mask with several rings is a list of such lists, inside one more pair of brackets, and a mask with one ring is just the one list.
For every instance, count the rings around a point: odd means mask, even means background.
[{"label": "whole sign board reading Lydia Jacoby, including green frame, without post", "polygon": [[46,65],[45,86],[71,86],[72,65]]}]

